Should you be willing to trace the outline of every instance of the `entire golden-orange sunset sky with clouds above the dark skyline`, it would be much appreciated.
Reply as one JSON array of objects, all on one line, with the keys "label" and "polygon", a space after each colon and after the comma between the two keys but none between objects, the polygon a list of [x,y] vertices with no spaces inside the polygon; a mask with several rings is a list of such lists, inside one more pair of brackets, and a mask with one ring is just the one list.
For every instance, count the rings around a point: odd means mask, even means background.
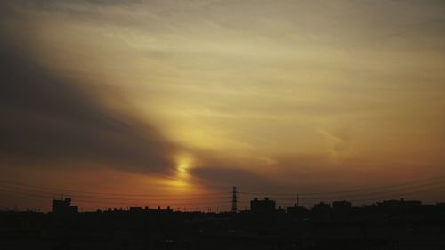
[{"label": "entire golden-orange sunset sky with clouds above the dark skyline", "polygon": [[84,210],[224,210],[232,186],[240,207],[444,201],[444,13],[433,0],[2,1],[0,208],[71,196]]}]

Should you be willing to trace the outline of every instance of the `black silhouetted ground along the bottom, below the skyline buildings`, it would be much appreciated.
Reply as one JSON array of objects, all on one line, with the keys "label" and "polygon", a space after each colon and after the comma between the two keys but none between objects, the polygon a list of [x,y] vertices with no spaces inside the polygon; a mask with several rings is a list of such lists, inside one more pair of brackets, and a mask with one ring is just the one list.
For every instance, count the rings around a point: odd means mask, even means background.
[{"label": "black silhouetted ground along the bottom, below the skyline buildings", "polygon": [[445,249],[445,206],[0,212],[0,249]]}]

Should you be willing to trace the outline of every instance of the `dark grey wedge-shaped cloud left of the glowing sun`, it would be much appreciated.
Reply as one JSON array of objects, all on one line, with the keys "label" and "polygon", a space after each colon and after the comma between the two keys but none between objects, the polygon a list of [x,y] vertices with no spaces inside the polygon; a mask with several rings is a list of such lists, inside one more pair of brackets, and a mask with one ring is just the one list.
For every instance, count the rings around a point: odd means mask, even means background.
[{"label": "dark grey wedge-shaped cloud left of the glowing sun", "polygon": [[0,26],[3,161],[59,166],[93,162],[157,174],[173,170],[176,146],[158,129],[137,115],[103,105],[96,95],[105,90],[81,89],[41,66],[23,42],[26,39],[12,42],[8,31]]}]

